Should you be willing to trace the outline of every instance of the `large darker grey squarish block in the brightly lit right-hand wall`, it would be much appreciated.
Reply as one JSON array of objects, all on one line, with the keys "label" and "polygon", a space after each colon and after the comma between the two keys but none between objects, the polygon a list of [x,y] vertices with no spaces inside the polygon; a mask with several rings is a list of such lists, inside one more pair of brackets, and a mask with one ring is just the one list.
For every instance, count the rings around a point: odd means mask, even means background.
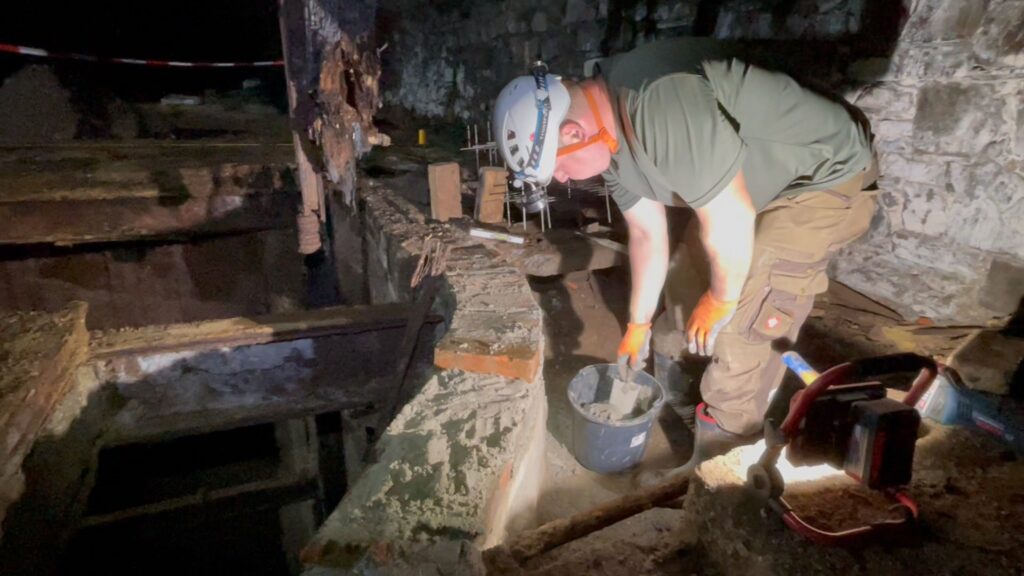
[{"label": "large darker grey squarish block in the brightly lit right-hand wall", "polygon": [[935,82],[918,95],[913,145],[933,153],[976,156],[998,139],[1009,139],[1004,100],[985,84]]}]

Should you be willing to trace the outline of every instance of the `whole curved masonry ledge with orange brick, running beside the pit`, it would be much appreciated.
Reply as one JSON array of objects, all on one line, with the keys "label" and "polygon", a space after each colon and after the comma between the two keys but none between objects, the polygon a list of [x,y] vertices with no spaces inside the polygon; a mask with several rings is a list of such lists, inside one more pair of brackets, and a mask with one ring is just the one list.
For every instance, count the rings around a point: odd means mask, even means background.
[{"label": "whole curved masonry ledge with orange brick, running beside the pit", "polygon": [[441,370],[304,549],[306,574],[481,574],[480,549],[536,522],[547,423],[541,310],[507,255],[427,220],[379,182],[359,195],[359,231],[339,237],[362,245],[368,299],[409,300],[423,240],[440,237],[452,249],[434,310],[447,330],[434,349]]}]

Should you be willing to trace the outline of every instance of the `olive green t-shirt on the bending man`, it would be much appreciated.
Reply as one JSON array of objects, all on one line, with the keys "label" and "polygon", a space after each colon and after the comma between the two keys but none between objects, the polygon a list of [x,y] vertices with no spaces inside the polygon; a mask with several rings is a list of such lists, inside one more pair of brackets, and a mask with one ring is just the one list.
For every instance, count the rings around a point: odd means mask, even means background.
[{"label": "olive green t-shirt on the bending man", "polygon": [[622,210],[641,197],[699,208],[742,169],[756,209],[863,170],[866,129],[788,76],[681,39],[601,60],[621,146],[604,172]]}]

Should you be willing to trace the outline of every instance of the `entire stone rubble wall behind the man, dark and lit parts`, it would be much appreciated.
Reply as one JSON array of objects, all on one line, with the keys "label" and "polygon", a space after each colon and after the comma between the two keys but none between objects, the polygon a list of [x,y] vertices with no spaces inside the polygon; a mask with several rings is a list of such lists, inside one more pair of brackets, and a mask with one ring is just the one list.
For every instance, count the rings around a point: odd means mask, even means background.
[{"label": "entire stone rubble wall behind the man, dark and lit parts", "polygon": [[726,0],[713,26],[698,4],[388,3],[383,98],[478,123],[482,133],[494,95],[538,56],[579,76],[589,58],[700,26],[718,38],[811,51],[824,42],[828,56],[818,59],[833,70],[811,76],[866,113],[883,173],[871,232],[836,259],[834,278],[908,319],[984,323],[1016,310],[1024,294],[1024,0],[796,0],[785,11],[785,3]]}]

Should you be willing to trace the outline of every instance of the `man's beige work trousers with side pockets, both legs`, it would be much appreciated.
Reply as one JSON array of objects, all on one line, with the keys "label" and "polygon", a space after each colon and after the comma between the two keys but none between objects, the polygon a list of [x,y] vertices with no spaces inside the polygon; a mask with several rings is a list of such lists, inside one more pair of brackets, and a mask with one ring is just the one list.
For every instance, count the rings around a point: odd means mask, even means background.
[{"label": "man's beige work trousers with side pockets, both legs", "polygon": [[[772,389],[785,374],[772,342],[796,342],[814,303],[828,287],[825,269],[840,248],[863,235],[874,213],[877,165],[819,192],[778,198],[757,216],[754,259],[736,313],[718,336],[700,395],[722,428],[760,431]],[[666,280],[666,312],[654,327],[654,349],[683,355],[686,316],[708,289],[709,265],[691,218]]]}]

